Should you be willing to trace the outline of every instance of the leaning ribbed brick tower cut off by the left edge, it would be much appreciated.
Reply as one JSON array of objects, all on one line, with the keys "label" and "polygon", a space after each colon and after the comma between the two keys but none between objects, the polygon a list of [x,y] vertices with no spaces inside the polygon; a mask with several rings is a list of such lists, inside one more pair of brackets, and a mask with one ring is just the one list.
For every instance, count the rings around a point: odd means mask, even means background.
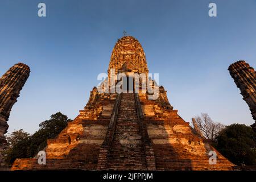
[{"label": "leaning ribbed brick tower cut off by the left edge", "polygon": [[4,135],[9,127],[7,121],[11,107],[19,97],[19,92],[29,75],[30,68],[26,64],[18,63],[0,78],[0,163],[2,163],[1,152],[6,144]]}]

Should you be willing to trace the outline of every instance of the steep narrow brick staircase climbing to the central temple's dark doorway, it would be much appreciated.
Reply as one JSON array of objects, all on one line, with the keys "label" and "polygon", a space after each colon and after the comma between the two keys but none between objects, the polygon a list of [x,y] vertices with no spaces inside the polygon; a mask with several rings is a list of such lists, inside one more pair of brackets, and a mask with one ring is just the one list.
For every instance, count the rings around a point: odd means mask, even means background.
[{"label": "steep narrow brick staircase climbing to the central temple's dark doorway", "polygon": [[122,94],[107,169],[146,169],[134,93]]}]

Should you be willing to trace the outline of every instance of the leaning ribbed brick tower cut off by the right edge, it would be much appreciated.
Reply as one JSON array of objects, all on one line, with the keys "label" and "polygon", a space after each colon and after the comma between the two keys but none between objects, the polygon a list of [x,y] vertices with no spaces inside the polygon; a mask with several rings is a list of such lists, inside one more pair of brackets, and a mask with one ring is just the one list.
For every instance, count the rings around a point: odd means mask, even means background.
[{"label": "leaning ribbed brick tower cut off by the right edge", "polygon": [[243,100],[250,107],[255,120],[251,127],[256,131],[256,72],[245,61],[237,61],[229,66],[229,73],[240,88]]}]

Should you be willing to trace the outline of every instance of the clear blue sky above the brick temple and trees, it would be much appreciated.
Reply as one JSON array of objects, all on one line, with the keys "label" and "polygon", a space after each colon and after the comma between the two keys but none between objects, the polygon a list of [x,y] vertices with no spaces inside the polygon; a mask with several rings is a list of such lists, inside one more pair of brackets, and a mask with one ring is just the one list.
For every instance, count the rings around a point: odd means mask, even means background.
[{"label": "clear blue sky above the brick temple and trees", "polygon": [[31,68],[9,132],[34,133],[57,111],[75,118],[123,30],[141,42],[150,73],[159,73],[185,121],[204,112],[225,125],[254,122],[227,69],[236,60],[256,68],[255,0],[1,0],[0,22],[0,74],[18,62]]}]

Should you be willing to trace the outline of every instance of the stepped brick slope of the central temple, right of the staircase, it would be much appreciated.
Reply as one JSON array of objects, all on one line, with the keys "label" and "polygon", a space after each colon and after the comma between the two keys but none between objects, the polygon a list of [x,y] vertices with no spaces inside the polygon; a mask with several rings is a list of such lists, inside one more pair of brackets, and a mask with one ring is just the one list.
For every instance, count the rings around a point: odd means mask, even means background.
[{"label": "stepped brick slope of the central temple, right of the staircase", "polygon": [[[159,106],[140,94],[144,122],[151,139],[158,170],[230,170],[230,163],[199,135],[193,133],[177,110]],[[167,98],[166,98],[167,99]],[[209,164],[209,151],[217,152],[217,164]]]}]

